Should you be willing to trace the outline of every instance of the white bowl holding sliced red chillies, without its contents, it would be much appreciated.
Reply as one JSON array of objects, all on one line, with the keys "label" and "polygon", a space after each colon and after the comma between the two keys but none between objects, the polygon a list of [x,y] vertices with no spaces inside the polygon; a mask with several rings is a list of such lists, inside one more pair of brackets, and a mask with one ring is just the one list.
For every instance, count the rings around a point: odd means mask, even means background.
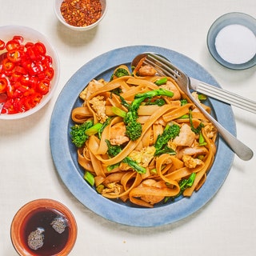
[{"label": "white bowl holding sliced red chillies, without its contents", "polygon": [[42,42],[46,46],[46,54],[50,55],[53,59],[54,78],[50,83],[50,91],[44,95],[41,102],[34,108],[27,110],[26,112],[18,114],[0,114],[0,119],[18,119],[25,118],[30,114],[34,114],[38,110],[42,109],[47,102],[52,98],[56,87],[58,86],[59,78],[59,60],[54,47],[48,42],[46,37],[37,30],[31,29],[27,26],[0,26],[0,38],[7,42],[14,37],[14,35],[21,35],[24,38],[24,42]]}]

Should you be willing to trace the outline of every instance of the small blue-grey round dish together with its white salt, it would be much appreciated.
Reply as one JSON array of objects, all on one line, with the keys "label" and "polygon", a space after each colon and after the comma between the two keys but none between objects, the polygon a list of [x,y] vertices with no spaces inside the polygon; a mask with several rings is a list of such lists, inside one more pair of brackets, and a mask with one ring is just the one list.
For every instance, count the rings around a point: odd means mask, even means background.
[{"label": "small blue-grey round dish together with its white salt", "polygon": [[213,58],[231,70],[246,70],[256,65],[256,19],[233,12],[218,18],[207,34]]}]

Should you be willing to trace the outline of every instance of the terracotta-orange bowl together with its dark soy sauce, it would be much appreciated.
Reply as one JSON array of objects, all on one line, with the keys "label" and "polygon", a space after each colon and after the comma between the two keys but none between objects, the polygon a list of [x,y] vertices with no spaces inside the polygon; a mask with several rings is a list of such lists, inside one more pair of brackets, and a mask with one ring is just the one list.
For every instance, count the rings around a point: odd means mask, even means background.
[{"label": "terracotta-orange bowl together with its dark soy sauce", "polygon": [[62,203],[42,198],[18,210],[11,223],[10,236],[21,256],[64,256],[74,246],[77,224]]}]

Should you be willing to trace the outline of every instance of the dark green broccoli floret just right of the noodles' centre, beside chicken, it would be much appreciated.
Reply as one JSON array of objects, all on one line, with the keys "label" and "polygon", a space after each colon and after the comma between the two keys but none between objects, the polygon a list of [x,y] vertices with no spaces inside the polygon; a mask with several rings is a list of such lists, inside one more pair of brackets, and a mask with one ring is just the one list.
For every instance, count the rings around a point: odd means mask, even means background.
[{"label": "dark green broccoli floret just right of the noodles' centre, beside chicken", "polygon": [[158,135],[157,141],[154,144],[155,155],[167,153],[167,154],[176,154],[174,150],[170,149],[166,144],[170,139],[178,136],[180,132],[180,127],[178,125],[167,125],[165,130],[161,135]]}]

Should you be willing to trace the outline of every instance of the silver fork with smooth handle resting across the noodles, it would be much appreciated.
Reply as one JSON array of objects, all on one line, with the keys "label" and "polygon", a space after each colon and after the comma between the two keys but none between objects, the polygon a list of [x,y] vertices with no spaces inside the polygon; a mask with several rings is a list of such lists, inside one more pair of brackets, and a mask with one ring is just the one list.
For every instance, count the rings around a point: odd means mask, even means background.
[{"label": "silver fork with smooth handle resting across the noodles", "polygon": [[235,154],[238,155],[242,160],[250,160],[254,152],[250,150],[248,146],[244,143],[240,142],[238,138],[235,138],[233,134],[230,134],[228,130],[226,130],[220,123],[218,123],[204,108],[198,103],[195,98],[190,93],[190,78],[187,77],[186,74],[179,70],[176,66],[166,60],[166,58],[162,58],[158,54],[154,53],[146,53],[146,63],[150,63],[150,66],[153,66],[155,70],[161,71],[162,74],[170,76],[174,78],[174,80],[178,83],[178,86],[182,89],[182,91],[190,98],[191,102],[194,103],[195,106],[204,114],[204,116],[214,124],[214,126],[218,129],[218,133],[224,138],[227,145],[230,146],[230,149],[234,151]]}]

